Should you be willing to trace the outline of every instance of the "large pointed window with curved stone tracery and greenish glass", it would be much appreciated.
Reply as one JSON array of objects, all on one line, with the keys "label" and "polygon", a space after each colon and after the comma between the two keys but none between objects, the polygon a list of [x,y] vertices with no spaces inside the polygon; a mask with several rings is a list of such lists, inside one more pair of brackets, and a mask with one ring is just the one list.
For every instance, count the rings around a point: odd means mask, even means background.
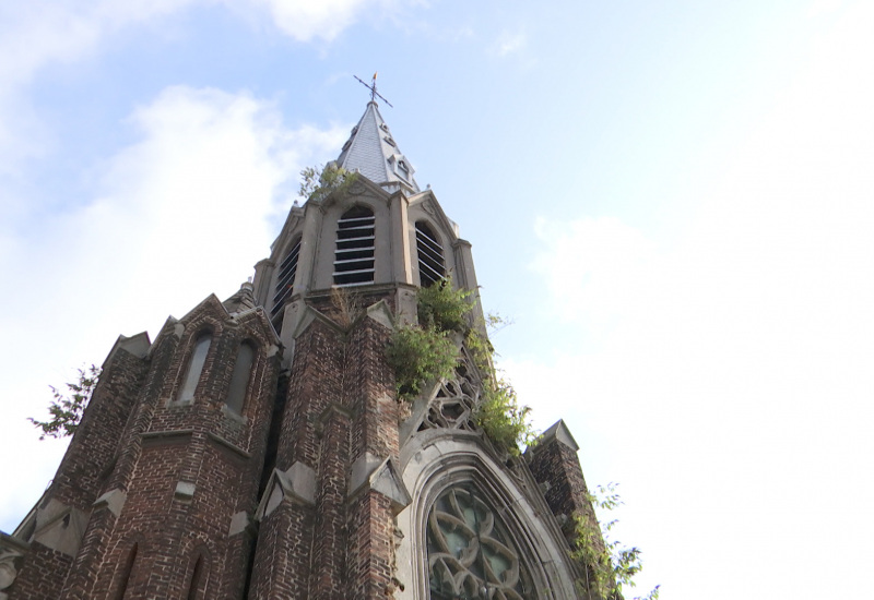
[{"label": "large pointed window with curved stone tracery and greenish glass", "polygon": [[507,526],[472,483],[437,496],[428,513],[427,540],[432,600],[535,597]]}]

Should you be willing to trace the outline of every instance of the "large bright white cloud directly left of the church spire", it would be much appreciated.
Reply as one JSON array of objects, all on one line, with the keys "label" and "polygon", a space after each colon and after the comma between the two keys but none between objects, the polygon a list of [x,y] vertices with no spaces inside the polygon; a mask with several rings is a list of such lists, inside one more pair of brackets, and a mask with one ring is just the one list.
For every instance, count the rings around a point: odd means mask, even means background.
[{"label": "large bright white cloud directly left of the church spire", "polygon": [[347,132],[290,131],[271,103],[184,86],[130,121],[141,140],[95,167],[94,197],[48,215],[36,239],[8,240],[15,253],[0,256],[10,290],[0,331],[15,340],[0,347],[0,362],[20,375],[0,382],[0,421],[20,423],[5,428],[0,454],[27,457],[0,466],[3,530],[35,502],[63,449],[23,427],[44,413],[47,384],[102,361],[120,333],[154,337],[170,312],[236,291],[269,253],[300,168],[323,161]]}]

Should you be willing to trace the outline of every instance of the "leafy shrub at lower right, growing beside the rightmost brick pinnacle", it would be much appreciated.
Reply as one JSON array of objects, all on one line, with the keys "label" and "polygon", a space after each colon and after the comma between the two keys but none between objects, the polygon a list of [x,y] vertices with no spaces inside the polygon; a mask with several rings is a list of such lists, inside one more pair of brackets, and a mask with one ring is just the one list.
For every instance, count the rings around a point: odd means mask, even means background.
[{"label": "leafy shrub at lower right, growing beside the rightmost brick pinnacle", "polygon": [[[599,485],[598,494],[589,501],[602,511],[613,511],[621,504],[616,484]],[[623,598],[624,587],[635,587],[634,577],[643,568],[639,548],[626,548],[610,539],[616,519],[599,521],[594,515],[575,516],[575,539],[571,555],[579,561],[586,573],[588,588],[603,600]],[[658,600],[659,586],[635,600]]]}]

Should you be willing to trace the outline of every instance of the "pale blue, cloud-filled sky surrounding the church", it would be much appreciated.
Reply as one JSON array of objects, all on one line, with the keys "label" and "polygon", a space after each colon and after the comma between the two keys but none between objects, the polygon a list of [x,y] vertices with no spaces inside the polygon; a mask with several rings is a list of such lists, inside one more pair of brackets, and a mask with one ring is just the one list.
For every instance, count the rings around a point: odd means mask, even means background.
[{"label": "pale blue, cloud-filled sky surrounding the church", "polygon": [[[379,71],[474,245],[494,343],[663,598],[864,597],[874,5],[45,0],[0,7],[0,529],[49,384],[268,254]],[[857,576],[854,576],[857,575]]]}]

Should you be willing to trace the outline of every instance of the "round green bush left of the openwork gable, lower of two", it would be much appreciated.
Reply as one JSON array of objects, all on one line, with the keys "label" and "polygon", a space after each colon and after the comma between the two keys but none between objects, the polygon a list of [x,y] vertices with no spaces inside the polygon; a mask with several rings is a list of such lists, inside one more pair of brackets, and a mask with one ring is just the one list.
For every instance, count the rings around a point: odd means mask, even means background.
[{"label": "round green bush left of the openwork gable, lower of two", "polygon": [[434,328],[398,327],[386,353],[394,369],[398,395],[405,400],[415,398],[423,384],[451,377],[458,362],[458,350],[447,332]]}]

